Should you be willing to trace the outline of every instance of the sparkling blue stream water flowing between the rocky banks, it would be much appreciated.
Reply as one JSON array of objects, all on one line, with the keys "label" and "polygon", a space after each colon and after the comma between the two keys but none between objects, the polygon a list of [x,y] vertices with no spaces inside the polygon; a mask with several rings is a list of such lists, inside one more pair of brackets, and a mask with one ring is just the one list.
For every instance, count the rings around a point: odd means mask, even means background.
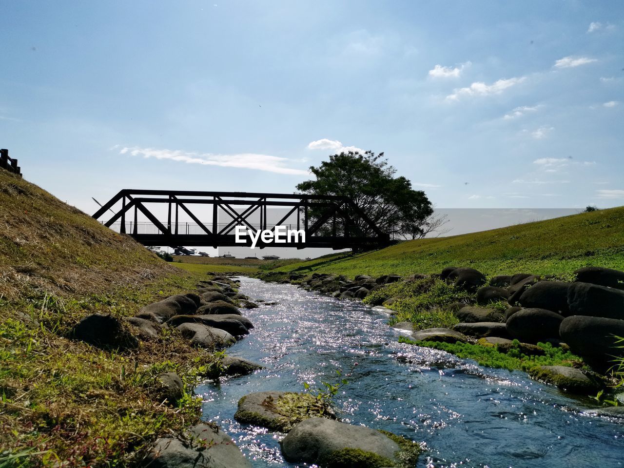
[{"label": "sparkling blue stream water flowing between the rocky banks", "polygon": [[566,397],[520,371],[482,368],[442,351],[398,343],[388,316],[361,303],[240,280],[241,293],[279,304],[244,311],[256,328],[228,354],[266,369],[196,391],[204,399],[204,419],[230,434],[254,467],[296,465],[281,457],[283,434],[233,419],[238,399],[250,392],[302,391],[304,382],[336,383],[336,369],[350,374],[349,384],[334,397],[343,421],[421,442],[427,452],[419,467],[624,464],[624,424],[592,416],[587,401]]}]

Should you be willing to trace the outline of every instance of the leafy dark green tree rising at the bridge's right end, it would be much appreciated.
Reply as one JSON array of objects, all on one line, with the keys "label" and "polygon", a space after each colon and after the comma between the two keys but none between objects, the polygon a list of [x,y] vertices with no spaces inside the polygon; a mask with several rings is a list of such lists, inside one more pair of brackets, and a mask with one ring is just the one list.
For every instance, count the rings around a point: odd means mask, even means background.
[{"label": "leafy dark green tree rising at the bridge's right end", "polygon": [[[388,165],[384,154],[366,151],[364,154],[349,151],[329,156],[319,167],[310,167],[316,180],[306,180],[297,185],[308,195],[341,195],[349,197],[383,232],[392,237],[411,235],[411,228],[424,222],[433,213],[429,198],[422,190],[413,190],[405,177],[394,177],[396,169]],[[347,214],[356,222],[361,235],[374,235],[361,218]],[[308,216],[316,220],[321,213],[310,208]],[[344,221],[342,219],[341,221]],[[331,226],[321,232],[328,233]]]}]

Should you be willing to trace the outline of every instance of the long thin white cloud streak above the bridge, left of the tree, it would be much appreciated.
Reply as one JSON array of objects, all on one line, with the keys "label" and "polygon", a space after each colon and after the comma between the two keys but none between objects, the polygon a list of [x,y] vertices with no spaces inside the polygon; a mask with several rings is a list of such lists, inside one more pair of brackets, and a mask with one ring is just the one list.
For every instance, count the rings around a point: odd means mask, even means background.
[{"label": "long thin white cloud streak above the bridge, left of the tree", "polygon": [[266,154],[210,154],[189,153],[181,150],[124,147],[119,154],[130,154],[144,158],[168,159],[189,164],[203,164],[220,167],[237,167],[246,169],[262,170],[288,175],[308,175],[307,170],[285,167],[288,158],[270,156]]}]

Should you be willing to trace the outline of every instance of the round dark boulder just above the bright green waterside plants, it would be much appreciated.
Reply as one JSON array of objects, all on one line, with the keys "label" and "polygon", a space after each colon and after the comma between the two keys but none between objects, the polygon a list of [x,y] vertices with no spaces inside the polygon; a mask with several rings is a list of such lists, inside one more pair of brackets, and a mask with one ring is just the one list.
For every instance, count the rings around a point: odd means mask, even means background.
[{"label": "round dark boulder just above the bright green waterside plants", "polygon": [[[535,286],[533,286],[535,287]],[[520,341],[537,343],[558,336],[563,316],[545,309],[527,308],[507,320],[507,331]]]}]

